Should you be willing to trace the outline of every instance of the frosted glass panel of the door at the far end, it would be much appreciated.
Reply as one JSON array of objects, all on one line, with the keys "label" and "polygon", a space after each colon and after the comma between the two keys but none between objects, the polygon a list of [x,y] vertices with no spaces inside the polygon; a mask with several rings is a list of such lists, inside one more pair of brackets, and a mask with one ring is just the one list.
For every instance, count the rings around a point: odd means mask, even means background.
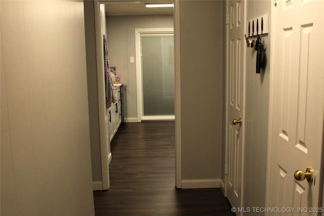
[{"label": "frosted glass panel of the door at the far end", "polygon": [[141,36],[143,115],[174,115],[173,35]]}]

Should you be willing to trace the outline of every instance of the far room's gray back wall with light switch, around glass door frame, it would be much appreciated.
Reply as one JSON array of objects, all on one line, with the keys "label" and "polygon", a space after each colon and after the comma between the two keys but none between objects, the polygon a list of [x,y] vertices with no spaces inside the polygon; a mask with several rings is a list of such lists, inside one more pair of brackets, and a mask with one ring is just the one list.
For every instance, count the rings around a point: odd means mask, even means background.
[{"label": "far room's gray back wall with light switch, around glass door frame", "polygon": [[108,16],[109,64],[127,85],[127,120],[137,122],[135,28],[173,28],[172,15]]}]

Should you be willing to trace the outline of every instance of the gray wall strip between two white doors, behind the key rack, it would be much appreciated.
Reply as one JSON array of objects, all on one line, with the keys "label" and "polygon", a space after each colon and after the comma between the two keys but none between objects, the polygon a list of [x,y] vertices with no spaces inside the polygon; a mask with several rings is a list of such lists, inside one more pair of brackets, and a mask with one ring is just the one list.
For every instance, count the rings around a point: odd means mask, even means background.
[{"label": "gray wall strip between two white doors, behind the key rack", "polygon": [[[270,14],[270,9],[271,1],[247,1],[247,20]],[[271,32],[263,37],[266,58],[260,74],[255,72],[256,52],[252,48],[247,49],[244,206],[265,205],[270,35]]]}]

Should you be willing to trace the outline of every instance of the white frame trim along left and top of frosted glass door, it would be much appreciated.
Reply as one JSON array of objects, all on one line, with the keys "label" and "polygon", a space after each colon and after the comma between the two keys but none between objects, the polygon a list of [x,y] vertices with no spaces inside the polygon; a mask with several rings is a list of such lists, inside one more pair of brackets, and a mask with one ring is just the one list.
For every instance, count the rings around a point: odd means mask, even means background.
[{"label": "white frame trim along left and top of frosted glass door", "polygon": [[136,56],[136,96],[137,96],[137,121],[141,122],[143,118],[143,100],[142,100],[142,61],[141,61],[141,36],[142,35],[160,35],[173,34],[173,28],[135,28],[135,56]]}]

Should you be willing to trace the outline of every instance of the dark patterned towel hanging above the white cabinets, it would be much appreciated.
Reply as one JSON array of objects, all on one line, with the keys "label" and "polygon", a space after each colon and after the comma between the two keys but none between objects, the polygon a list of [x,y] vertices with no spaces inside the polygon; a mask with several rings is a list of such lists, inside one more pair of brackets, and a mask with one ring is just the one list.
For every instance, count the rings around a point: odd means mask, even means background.
[{"label": "dark patterned towel hanging above the white cabinets", "polygon": [[113,82],[110,76],[108,46],[106,35],[103,35],[103,52],[104,52],[104,67],[105,67],[105,88],[106,88],[106,108],[108,109],[112,103],[116,103],[116,94]]}]

